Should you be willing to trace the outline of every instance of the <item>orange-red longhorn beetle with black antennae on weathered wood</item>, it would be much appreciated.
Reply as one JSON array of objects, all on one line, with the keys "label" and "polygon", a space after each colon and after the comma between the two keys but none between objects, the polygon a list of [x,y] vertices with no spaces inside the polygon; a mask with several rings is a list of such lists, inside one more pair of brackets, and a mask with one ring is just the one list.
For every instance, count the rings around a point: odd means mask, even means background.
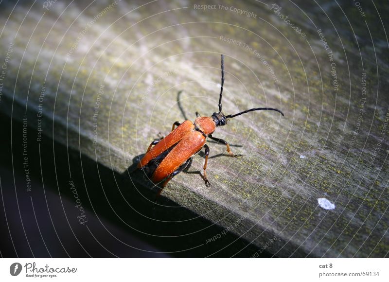
[{"label": "orange-red longhorn beetle with black antennae on weathered wood", "polygon": [[[154,183],[159,183],[162,180],[162,188],[176,176],[183,171],[192,158],[204,147],[205,148],[205,162],[203,166],[203,177],[206,186],[210,186],[210,182],[207,178],[207,163],[210,148],[206,144],[207,138],[210,138],[218,143],[226,145],[227,152],[230,156],[236,157],[230,150],[230,145],[223,139],[213,137],[212,134],[216,127],[224,126],[227,124],[228,119],[232,119],[242,114],[257,111],[257,110],[272,110],[277,111],[283,115],[283,112],[279,109],[270,107],[260,107],[245,110],[243,112],[234,115],[224,115],[222,112],[222,97],[223,97],[223,85],[224,85],[224,55],[221,55],[221,88],[219,94],[219,112],[215,112],[211,117],[201,117],[196,112],[195,122],[189,120],[183,123],[175,122],[172,126],[172,131],[164,138],[156,139],[152,141],[139,162],[137,168],[142,169],[147,176],[151,177]],[[177,126],[177,128],[176,128]],[[159,190],[158,195],[162,189]]]}]

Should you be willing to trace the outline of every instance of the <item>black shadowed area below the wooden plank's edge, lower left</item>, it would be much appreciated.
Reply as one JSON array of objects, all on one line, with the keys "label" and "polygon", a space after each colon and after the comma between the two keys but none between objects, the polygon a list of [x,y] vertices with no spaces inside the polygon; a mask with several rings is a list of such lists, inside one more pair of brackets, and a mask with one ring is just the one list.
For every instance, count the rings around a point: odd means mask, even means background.
[{"label": "black shadowed area below the wooden plank's edge, lower left", "polygon": [[[24,129],[23,123],[11,126],[4,115],[0,121],[3,132],[12,132],[0,139],[2,257],[250,257],[258,252],[231,232],[217,235],[224,229],[163,195],[155,206],[158,189],[148,189],[151,183],[141,173],[129,178],[44,135],[37,142],[36,130]],[[207,243],[216,235],[220,238]]]}]

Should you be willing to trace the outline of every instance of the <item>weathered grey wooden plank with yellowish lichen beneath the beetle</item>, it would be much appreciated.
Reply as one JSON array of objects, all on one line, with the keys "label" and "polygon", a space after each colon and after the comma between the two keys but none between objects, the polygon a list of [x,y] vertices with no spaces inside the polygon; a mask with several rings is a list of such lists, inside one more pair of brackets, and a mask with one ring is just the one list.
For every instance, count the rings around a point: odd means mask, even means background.
[{"label": "weathered grey wooden plank with yellowish lichen beneath the beetle", "polygon": [[[41,104],[43,139],[150,189],[127,169],[184,115],[217,111],[223,53],[225,114],[269,106],[285,117],[263,111],[230,120],[213,136],[243,156],[229,158],[208,141],[212,187],[190,173],[202,171],[200,154],[162,195],[274,256],[388,256],[389,46],[381,19],[388,26],[373,5],[362,17],[348,1],[280,1],[278,14],[273,2],[223,1],[227,10],[195,9],[209,3],[197,1],[111,3],[57,1],[49,10],[24,3],[12,13],[3,5],[0,63],[10,44],[13,51],[0,108],[27,117],[31,146]],[[204,244],[216,244],[210,238]]]}]

